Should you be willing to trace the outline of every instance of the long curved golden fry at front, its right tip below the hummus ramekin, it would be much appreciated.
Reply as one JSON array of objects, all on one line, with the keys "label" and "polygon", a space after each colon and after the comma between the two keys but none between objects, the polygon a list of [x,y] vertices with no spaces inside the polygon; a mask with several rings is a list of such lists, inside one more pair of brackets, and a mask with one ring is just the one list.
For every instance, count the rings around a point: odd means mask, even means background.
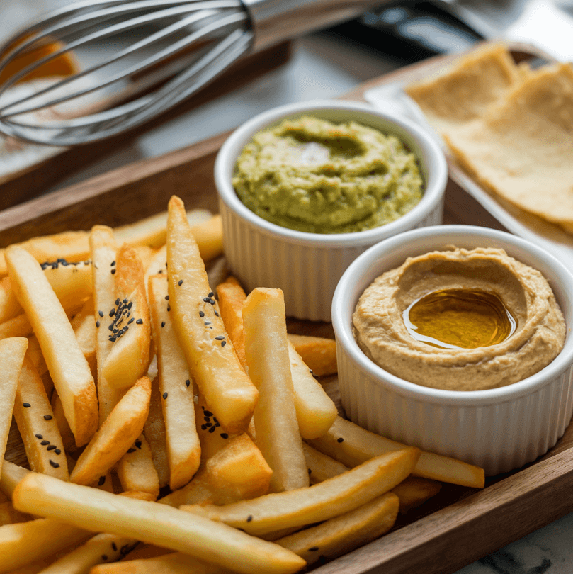
[{"label": "long curved golden fry at front, its right tip below the hummus ramekin", "polygon": [[[268,494],[225,506],[183,505],[180,510],[225,522],[255,535],[305,526],[350,512],[392,490],[412,472],[419,454],[414,448],[390,452],[310,488]],[[25,507],[21,510],[26,512]]]}]

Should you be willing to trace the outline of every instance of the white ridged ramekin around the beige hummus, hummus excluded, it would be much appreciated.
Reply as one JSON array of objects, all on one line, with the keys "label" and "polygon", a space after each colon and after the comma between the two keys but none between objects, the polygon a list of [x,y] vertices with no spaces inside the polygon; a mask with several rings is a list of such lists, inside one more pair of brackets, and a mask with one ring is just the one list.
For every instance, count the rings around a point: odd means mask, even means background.
[{"label": "white ridged ramekin around the beige hummus, hummus excluded", "polygon": [[[366,287],[407,257],[446,248],[497,247],[548,279],[567,325],[560,354],[535,375],[508,386],[441,390],[404,381],[361,351],[352,314]],[[332,302],[341,400],[356,424],[405,444],[508,472],[545,454],[562,437],[573,410],[573,276],[544,249],[509,233],[443,225],[391,237],[346,269]]]}]

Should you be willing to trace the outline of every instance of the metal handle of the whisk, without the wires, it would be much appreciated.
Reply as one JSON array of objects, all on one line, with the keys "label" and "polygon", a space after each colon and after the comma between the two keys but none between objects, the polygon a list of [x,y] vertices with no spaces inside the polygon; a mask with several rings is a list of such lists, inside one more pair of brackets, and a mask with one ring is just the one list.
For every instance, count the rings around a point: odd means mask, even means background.
[{"label": "metal handle of the whisk, without the wires", "polygon": [[242,0],[255,51],[360,16],[388,0]]}]

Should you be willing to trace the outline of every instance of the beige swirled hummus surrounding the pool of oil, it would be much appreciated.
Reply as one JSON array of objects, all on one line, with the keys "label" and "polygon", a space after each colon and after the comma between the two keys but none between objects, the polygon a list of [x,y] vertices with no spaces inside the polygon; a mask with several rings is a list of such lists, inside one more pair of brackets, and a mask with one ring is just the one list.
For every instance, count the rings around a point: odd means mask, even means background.
[{"label": "beige swirled hummus surrounding the pool of oil", "polygon": [[[412,337],[404,311],[441,290],[497,296],[516,326],[502,342],[441,348]],[[521,381],[550,364],[565,342],[565,320],[542,274],[503,249],[458,249],[407,259],[364,291],[353,314],[359,347],[378,366],[418,385],[482,390]]]}]

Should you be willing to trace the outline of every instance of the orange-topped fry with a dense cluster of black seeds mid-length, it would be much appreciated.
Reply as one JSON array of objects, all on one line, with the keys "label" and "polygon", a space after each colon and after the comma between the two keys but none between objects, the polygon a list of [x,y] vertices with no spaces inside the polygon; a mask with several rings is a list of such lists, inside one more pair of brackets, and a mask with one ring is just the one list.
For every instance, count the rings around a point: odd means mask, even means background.
[{"label": "orange-topped fry with a dense cluster of black seeds mid-length", "polygon": [[101,324],[106,325],[113,347],[101,374],[109,386],[125,389],[147,373],[151,328],[143,267],[131,247],[120,247],[115,269],[115,314]]}]

